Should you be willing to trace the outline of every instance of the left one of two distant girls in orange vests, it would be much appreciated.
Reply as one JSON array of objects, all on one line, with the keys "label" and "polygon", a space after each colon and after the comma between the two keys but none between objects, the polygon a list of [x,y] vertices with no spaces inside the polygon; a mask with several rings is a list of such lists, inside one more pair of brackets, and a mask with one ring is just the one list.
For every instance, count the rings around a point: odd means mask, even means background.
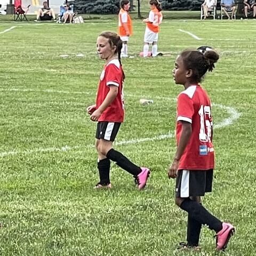
[{"label": "left one of two distant girls in orange vests", "polygon": [[132,19],[128,13],[130,9],[130,1],[122,0],[120,3],[121,9],[118,14],[118,34],[123,41],[121,57],[128,57],[129,37],[132,35]]}]

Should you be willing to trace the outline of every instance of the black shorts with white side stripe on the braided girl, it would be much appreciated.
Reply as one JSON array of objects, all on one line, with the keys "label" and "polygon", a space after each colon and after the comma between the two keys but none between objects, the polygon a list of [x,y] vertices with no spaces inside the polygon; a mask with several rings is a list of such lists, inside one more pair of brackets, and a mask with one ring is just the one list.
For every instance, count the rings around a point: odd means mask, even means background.
[{"label": "black shorts with white side stripe on the braided girl", "polygon": [[121,123],[98,122],[95,138],[114,141],[120,126]]}]

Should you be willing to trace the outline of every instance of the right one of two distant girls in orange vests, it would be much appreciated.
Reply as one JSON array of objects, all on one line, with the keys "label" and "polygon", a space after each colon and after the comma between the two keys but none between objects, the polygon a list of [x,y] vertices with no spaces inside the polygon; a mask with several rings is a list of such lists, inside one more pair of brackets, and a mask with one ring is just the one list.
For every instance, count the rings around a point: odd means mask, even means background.
[{"label": "right one of two distant girls in orange vests", "polygon": [[150,0],[149,4],[151,11],[148,18],[143,20],[147,25],[144,35],[143,57],[148,57],[149,44],[152,44],[152,57],[156,57],[158,31],[163,15],[160,3],[157,0]]}]

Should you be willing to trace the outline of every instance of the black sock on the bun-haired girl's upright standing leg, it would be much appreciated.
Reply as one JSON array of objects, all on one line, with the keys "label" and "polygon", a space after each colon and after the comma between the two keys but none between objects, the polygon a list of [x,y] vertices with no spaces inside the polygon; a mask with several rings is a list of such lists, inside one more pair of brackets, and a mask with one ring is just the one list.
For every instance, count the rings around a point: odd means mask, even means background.
[{"label": "black sock on the bun-haired girl's upright standing leg", "polygon": [[188,245],[198,246],[201,228],[202,228],[202,224],[197,220],[191,218],[191,215],[188,214],[188,226],[187,226]]}]

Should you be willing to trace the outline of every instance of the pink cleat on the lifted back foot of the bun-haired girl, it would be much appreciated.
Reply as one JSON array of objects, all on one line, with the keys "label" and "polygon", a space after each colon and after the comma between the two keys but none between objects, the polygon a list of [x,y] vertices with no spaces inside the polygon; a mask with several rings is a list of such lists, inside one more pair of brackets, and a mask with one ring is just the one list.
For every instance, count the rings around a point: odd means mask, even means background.
[{"label": "pink cleat on the lifted back foot of the bun-haired girl", "polygon": [[216,249],[225,250],[227,248],[228,241],[235,233],[235,228],[230,224],[223,222],[222,229],[215,235],[216,236]]}]

